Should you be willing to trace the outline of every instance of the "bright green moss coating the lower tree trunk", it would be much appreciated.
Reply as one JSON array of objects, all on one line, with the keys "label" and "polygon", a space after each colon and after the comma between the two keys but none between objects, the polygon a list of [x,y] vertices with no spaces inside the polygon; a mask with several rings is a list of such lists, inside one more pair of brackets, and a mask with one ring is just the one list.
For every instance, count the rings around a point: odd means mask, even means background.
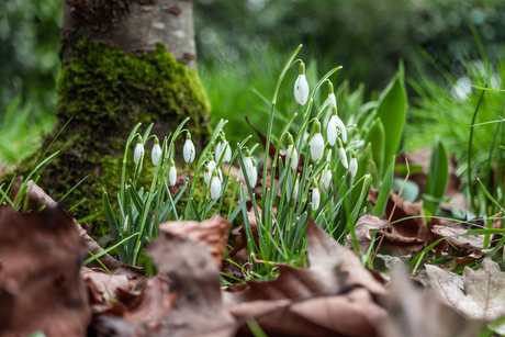
[{"label": "bright green moss coating the lower tree trunk", "polygon": [[[161,139],[189,116],[186,126],[197,147],[210,135],[210,103],[198,74],[177,61],[161,44],[152,54],[131,55],[82,38],[61,69],[57,90],[56,128],[71,122],[53,145],[49,153],[59,149],[60,154],[45,167],[40,186],[58,200],[89,175],[65,200],[68,209],[86,199],[76,209],[82,216],[102,212],[102,187],[115,200],[124,145],[136,123],[142,122],[141,130],[145,130],[155,122],[153,134]],[[18,166],[19,173],[27,176],[58,130],[46,135],[42,148]],[[128,159],[132,166],[132,156]],[[142,186],[148,186],[153,177],[150,160],[145,161]],[[108,231],[104,224],[104,218],[99,218],[96,237]]]}]

